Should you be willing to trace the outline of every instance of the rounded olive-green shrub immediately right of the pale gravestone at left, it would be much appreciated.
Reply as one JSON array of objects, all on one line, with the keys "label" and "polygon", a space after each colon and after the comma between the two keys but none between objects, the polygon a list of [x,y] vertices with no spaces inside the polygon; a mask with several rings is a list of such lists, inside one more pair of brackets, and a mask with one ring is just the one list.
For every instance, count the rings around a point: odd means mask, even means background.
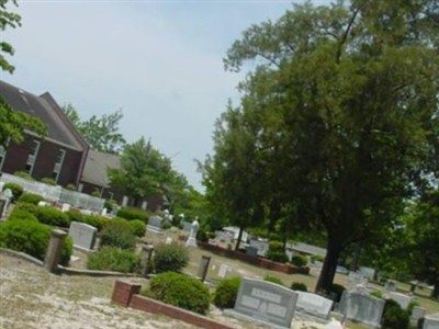
[{"label": "rounded olive-green shrub immediately right of the pale gravestone at left", "polygon": [[134,249],[136,237],[133,227],[125,219],[112,219],[101,232],[101,246]]}]

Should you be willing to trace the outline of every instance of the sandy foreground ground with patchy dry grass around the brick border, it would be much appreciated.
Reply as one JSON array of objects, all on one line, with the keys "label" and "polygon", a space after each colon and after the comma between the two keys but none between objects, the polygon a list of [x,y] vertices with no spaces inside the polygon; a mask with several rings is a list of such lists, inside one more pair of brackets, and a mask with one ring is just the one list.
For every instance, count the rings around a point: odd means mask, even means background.
[{"label": "sandy foreground ground with patchy dry grass around the brick border", "polygon": [[[0,328],[166,329],[195,328],[165,316],[110,303],[117,277],[54,275],[19,258],[0,253]],[[124,281],[145,284],[144,279]],[[210,317],[233,328],[266,328],[223,316]],[[294,329],[319,329],[319,324],[294,320]]]}]

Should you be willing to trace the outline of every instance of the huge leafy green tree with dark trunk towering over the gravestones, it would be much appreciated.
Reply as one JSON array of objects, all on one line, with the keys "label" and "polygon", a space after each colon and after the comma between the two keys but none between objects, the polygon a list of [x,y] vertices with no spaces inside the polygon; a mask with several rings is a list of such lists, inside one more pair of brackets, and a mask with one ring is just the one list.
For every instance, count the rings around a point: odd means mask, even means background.
[{"label": "huge leafy green tree with dark trunk towering over the gravestones", "polygon": [[[326,231],[317,291],[330,290],[344,248],[393,227],[404,200],[437,172],[437,4],[294,5],[277,22],[252,25],[227,53],[229,70],[256,63],[240,83],[239,116],[241,125],[258,125],[258,151],[247,161],[269,173],[258,179],[243,170],[233,183],[246,191],[268,185],[257,202],[274,202],[270,208],[291,209],[291,220]],[[233,139],[214,141],[226,149]],[[217,167],[210,168],[215,178]],[[230,193],[236,201],[245,195]]]}]

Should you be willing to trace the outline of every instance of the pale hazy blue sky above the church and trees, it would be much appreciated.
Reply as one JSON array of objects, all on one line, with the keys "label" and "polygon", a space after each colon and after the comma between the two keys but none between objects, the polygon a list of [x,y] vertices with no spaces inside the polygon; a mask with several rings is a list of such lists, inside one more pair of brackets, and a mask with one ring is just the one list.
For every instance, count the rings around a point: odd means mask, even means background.
[{"label": "pale hazy blue sky above the church and trees", "polygon": [[[295,3],[302,1],[294,1]],[[322,4],[328,1],[313,1]],[[291,1],[20,1],[22,26],[1,79],[72,103],[81,118],[123,110],[121,132],[171,158],[202,191],[194,159],[212,152],[213,124],[238,100],[244,73],[223,57],[252,23],[277,20]]]}]

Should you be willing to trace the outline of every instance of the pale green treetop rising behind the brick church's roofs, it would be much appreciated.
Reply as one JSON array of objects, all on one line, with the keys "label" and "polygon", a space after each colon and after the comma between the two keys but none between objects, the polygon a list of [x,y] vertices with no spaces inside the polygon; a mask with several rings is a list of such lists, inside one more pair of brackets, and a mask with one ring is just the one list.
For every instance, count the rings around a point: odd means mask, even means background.
[{"label": "pale green treetop rising behind the brick church's roofs", "polygon": [[125,139],[119,132],[119,124],[123,117],[122,110],[101,117],[92,115],[89,120],[82,121],[71,104],[63,106],[64,113],[86,138],[92,149],[119,154],[125,145]]}]

